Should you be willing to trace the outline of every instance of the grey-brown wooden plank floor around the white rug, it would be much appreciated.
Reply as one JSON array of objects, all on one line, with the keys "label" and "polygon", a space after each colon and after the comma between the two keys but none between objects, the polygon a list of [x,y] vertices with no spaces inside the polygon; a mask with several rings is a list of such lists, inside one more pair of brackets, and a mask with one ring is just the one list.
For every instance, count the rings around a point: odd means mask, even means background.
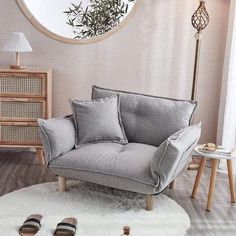
[{"label": "grey-brown wooden plank floor around the white rug", "polygon": [[[36,163],[32,152],[0,152],[0,196],[33,184],[55,181],[50,171]],[[178,202],[191,219],[188,235],[236,235],[236,204],[231,204],[227,176],[218,173],[211,212],[205,211],[209,170],[202,177],[196,199],[191,191],[196,172],[186,171],[178,178],[176,189],[163,193]],[[138,235],[137,235],[138,236]],[[177,235],[178,236],[178,235]]]}]

